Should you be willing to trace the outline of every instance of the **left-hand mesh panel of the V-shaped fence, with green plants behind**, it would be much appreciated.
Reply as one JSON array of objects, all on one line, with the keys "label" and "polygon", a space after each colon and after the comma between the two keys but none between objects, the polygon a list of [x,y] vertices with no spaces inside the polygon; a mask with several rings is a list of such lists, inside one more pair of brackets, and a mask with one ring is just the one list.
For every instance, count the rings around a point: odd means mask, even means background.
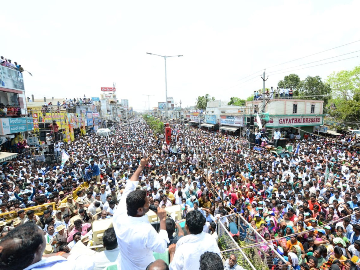
[{"label": "left-hand mesh panel of the V-shaped fence, with green plants behind", "polygon": [[[225,224],[229,224],[230,222],[235,222],[235,215],[228,215],[226,217],[222,217],[221,220],[227,219]],[[233,237],[229,234],[226,225],[219,220],[217,225],[217,235],[219,236],[219,248],[222,257],[224,259],[228,259],[231,254],[235,254],[238,257],[237,264],[243,267],[243,269],[253,269],[258,270],[261,268],[254,267],[249,258],[245,255],[245,253],[240,249],[239,245],[235,242]]]}]

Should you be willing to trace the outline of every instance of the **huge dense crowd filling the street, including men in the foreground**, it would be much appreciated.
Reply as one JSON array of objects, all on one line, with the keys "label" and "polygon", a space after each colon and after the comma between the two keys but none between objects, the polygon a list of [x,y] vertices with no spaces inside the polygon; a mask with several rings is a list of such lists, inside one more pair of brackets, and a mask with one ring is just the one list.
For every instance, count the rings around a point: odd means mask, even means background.
[{"label": "huge dense crowd filling the street, including men in the foreground", "polygon": [[[6,212],[17,217],[0,221],[0,268],[243,269],[236,254],[222,263],[218,222],[235,240],[273,245],[284,260],[266,249],[269,269],[359,267],[360,150],[352,134],[294,140],[298,153],[280,158],[236,136],[171,128],[167,145],[137,118],[109,138],[86,134],[68,144],[63,165],[25,158],[1,164],[0,219]],[[46,203],[41,216],[23,210]],[[166,216],[174,204],[185,228]],[[149,208],[158,232],[145,216]],[[231,213],[236,222],[223,218]],[[109,217],[114,228],[104,233],[105,251],[69,255],[79,241],[92,240],[92,221]],[[266,242],[254,241],[247,226]],[[166,248],[169,265],[153,257]]]}]

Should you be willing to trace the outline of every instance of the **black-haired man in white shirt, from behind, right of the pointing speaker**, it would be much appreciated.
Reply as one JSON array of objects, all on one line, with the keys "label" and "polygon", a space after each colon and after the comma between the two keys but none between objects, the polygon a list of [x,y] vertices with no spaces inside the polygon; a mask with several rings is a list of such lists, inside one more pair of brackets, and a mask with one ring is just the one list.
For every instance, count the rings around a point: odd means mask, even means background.
[{"label": "black-haired man in white shirt, from behind, right of the pointing speaker", "polygon": [[206,252],[214,252],[220,256],[220,249],[215,238],[203,232],[206,222],[200,211],[191,211],[186,214],[185,229],[188,235],[181,237],[174,246],[169,247],[170,270],[199,269],[200,256]]}]

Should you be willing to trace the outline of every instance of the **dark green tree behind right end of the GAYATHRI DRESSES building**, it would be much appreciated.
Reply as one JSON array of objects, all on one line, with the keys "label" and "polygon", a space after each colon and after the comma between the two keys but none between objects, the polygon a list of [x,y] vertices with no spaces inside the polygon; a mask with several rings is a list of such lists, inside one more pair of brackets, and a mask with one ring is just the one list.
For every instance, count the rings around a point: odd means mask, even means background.
[{"label": "dark green tree behind right end of the GAYATHRI DRESSES building", "polygon": [[302,99],[324,100],[324,107],[331,98],[330,85],[321,81],[320,76],[307,76],[299,83],[298,91]]}]

